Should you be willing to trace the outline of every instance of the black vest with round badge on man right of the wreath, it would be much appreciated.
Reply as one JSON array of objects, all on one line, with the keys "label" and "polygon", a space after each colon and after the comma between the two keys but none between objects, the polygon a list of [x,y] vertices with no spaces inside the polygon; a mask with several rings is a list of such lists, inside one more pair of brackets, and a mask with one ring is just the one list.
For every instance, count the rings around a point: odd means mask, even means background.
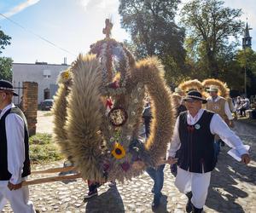
[{"label": "black vest with round badge on man right of the wreath", "polygon": [[[179,116],[179,149],[177,165],[183,170],[203,173],[212,171],[217,163],[214,154],[214,135],[210,130],[213,112],[203,112],[201,118],[194,125],[187,123],[188,112]],[[202,170],[203,168],[203,170]]]}]

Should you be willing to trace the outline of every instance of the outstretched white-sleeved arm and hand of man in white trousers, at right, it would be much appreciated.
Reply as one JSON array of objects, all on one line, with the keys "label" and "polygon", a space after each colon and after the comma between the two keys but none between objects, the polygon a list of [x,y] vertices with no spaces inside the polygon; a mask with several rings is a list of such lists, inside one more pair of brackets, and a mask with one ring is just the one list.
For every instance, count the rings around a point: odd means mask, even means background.
[{"label": "outstretched white-sleeved arm and hand of man in white trousers, at right", "polygon": [[228,125],[225,124],[224,120],[220,118],[218,114],[213,115],[210,123],[210,130],[213,135],[219,135],[222,141],[224,141],[229,147],[236,147],[237,152],[241,155],[242,161],[245,164],[249,163],[250,159],[241,139],[235,135],[232,130],[230,130]]}]

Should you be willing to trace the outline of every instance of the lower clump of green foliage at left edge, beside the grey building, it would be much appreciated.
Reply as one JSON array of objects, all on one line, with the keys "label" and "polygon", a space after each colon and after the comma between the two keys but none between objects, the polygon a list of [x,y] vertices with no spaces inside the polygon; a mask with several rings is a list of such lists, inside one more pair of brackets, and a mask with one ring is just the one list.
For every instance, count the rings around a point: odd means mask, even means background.
[{"label": "lower clump of green foliage at left edge, beside the grey building", "polygon": [[0,79],[12,81],[13,60],[7,57],[0,57]]}]

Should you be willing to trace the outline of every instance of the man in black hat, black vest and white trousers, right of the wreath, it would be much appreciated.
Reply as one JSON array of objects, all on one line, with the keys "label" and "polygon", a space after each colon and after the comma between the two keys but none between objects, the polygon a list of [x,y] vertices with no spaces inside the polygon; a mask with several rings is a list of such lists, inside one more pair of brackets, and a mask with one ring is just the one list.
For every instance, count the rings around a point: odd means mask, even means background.
[{"label": "man in black hat, black vest and white trousers, right of the wreath", "polygon": [[[241,162],[248,164],[250,157],[239,137],[224,123],[217,113],[202,109],[207,100],[198,91],[184,97],[188,109],[182,112],[175,124],[169,164],[177,162],[176,187],[189,198],[187,212],[202,212],[207,199],[211,172],[217,159],[214,154],[214,135],[219,135],[230,147],[236,147]],[[179,157],[175,154],[179,149]]]}]

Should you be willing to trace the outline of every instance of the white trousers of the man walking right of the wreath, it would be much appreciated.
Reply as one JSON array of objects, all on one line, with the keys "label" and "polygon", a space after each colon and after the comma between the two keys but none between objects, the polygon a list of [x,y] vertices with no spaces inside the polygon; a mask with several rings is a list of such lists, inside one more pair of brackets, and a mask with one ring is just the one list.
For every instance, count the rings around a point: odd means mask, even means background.
[{"label": "white trousers of the man walking right of the wreath", "polygon": [[191,203],[198,209],[203,208],[207,200],[211,172],[193,173],[177,167],[175,186],[181,193],[192,192]]}]

